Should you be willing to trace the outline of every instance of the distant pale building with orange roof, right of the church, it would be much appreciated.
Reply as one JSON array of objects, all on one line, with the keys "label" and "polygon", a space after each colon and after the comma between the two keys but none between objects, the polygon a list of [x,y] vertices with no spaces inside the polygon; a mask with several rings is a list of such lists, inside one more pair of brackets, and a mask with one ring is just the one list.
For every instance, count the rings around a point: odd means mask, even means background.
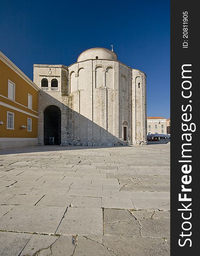
[{"label": "distant pale building with orange roof, right of the church", "polygon": [[167,134],[166,118],[160,116],[147,117],[147,134]]}]

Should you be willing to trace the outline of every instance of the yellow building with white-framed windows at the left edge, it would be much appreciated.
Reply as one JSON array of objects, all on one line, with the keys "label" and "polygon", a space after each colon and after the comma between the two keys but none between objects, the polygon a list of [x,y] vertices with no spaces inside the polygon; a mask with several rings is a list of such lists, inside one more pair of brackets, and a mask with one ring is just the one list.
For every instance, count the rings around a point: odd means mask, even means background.
[{"label": "yellow building with white-framed windows at the left edge", "polygon": [[40,90],[0,52],[0,149],[38,145]]}]

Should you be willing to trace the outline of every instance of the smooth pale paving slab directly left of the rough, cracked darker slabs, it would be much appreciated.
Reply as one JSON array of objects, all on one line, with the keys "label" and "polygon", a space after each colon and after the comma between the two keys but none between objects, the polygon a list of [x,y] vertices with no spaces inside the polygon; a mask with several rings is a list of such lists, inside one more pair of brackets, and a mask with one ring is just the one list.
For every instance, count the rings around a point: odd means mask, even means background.
[{"label": "smooth pale paving slab directly left of the rough, cracked darker slabs", "polygon": [[61,235],[103,235],[102,209],[69,207],[56,233]]}]

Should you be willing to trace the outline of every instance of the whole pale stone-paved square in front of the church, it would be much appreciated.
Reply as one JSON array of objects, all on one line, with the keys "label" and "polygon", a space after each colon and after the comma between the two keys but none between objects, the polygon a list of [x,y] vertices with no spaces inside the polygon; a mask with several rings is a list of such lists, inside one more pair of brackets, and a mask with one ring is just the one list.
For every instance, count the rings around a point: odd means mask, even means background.
[{"label": "whole pale stone-paved square in front of the church", "polygon": [[0,255],[170,255],[170,145],[0,154]]}]

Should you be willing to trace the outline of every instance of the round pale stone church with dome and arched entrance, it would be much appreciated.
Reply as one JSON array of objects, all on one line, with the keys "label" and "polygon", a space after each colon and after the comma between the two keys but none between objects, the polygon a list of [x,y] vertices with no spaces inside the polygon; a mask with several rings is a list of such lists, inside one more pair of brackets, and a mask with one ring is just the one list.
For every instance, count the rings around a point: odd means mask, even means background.
[{"label": "round pale stone church with dome and arched entrance", "polygon": [[109,49],[82,52],[77,62],[34,64],[39,93],[39,145],[146,144],[146,74]]}]

